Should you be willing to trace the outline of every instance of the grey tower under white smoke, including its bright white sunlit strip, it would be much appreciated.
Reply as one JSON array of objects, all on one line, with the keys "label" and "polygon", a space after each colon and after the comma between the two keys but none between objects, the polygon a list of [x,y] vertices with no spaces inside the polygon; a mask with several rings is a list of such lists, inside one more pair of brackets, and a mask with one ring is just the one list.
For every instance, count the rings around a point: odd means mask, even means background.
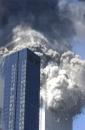
[{"label": "grey tower under white smoke, including its bright white sunlit strip", "polygon": [[72,130],[72,117],[63,114],[56,114],[45,106],[40,108],[40,129],[39,130]]}]

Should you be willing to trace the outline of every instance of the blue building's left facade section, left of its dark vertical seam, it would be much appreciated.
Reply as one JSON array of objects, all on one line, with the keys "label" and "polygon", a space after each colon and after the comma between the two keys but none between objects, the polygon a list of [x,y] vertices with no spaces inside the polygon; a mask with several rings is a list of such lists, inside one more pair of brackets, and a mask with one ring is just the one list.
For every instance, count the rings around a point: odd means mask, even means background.
[{"label": "blue building's left facade section, left of its dark vertical seam", "polygon": [[18,53],[5,58],[3,130],[14,130],[16,111]]}]

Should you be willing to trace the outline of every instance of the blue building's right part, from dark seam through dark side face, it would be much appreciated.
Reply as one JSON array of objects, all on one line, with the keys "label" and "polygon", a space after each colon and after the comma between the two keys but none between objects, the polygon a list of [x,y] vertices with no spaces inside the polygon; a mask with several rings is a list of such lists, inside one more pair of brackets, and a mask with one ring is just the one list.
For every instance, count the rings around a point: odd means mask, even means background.
[{"label": "blue building's right part, from dark seam through dark side face", "polygon": [[19,53],[16,130],[39,129],[40,59],[31,51]]}]

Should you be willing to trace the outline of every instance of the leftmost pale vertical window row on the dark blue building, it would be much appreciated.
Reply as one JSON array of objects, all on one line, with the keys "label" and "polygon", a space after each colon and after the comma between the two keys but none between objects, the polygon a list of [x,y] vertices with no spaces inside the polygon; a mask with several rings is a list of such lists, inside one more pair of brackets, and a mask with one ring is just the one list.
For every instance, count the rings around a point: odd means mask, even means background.
[{"label": "leftmost pale vertical window row on the dark blue building", "polygon": [[11,86],[10,86],[10,103],[9,103],[9,130],[14,130],[15,117],[15,91],[16,91],[16,64],[11,68]]}]

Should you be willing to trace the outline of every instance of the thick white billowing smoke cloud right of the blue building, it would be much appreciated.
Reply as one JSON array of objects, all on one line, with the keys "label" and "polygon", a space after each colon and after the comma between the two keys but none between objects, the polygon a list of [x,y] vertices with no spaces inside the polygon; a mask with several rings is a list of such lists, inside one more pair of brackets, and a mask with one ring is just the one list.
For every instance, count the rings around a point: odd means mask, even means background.
[{"label": "thick white billowing smoke cloud right of the blue building", "polygon": [[80,112],[85,104],[85,61],[71,52],[61,56],[59,66],[48,65],[43,70],[47,80],[47,106],[56,112],[72,115]]}]

